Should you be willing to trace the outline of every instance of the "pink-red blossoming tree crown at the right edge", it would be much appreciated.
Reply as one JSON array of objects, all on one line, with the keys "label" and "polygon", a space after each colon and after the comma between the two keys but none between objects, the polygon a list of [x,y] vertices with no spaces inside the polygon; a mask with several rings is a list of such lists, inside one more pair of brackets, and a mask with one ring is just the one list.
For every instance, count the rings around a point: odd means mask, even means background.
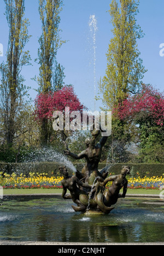
[{"label": "pink-red blossoming tree crown at the right edge", "polygon": [[119,106],[119,118],[131,119],[139,125],[164,125],[164,95],[151,85],[142,85],[140,94],[129,95]]}]

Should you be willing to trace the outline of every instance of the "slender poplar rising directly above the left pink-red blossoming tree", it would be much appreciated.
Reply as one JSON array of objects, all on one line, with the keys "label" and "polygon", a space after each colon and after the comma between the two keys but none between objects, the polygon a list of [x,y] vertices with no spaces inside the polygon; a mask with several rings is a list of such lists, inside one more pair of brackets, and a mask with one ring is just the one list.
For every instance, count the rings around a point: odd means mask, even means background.
[{"label": "slender poplar rising directly above the left pink-red blossoming tree", "polygon": [[[64,42],[60,38],[59,29],[62,5],[62,0],[39,0],[39,15],[42,21],[42,35],[39,38],[40,47],[38,49],[39,94],[48,94],[54,89],[54,63],[57,50]],[[50,130],[48,120],[44,119],[41,124],[41,143],[43,145],[49,142]]]}]

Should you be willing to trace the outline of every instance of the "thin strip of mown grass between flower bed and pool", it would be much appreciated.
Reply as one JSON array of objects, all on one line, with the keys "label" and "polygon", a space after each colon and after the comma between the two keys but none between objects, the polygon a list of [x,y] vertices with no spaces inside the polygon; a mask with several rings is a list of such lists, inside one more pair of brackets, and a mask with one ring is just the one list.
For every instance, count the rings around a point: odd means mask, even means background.
[{"label": "thin strip of mown grass between flower bed and pool", "polygon": [[[69,193],[69,191],[68,191]],[[62,189],[3,189],[4,195],[26,195],[26,194],[62,194]],[[128,189],[127,194],[159,195],[160,190],[151,189]]]}]

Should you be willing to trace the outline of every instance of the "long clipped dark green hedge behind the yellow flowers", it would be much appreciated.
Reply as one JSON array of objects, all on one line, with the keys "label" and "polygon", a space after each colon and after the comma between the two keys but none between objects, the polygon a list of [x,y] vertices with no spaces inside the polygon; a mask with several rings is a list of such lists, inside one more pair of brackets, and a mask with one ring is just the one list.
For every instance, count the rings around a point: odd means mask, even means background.
[{"label": "long clipped dark green hedge behind the yellow flowers", "polygon": [[[121,168],[124,165],[128,165],[131,167],[131,174],[133,177],[137,177],[138,173],[140,177],[144,177],[145,175],[149,177],[159,176],[161,177],[164,174],[164,164],[115,164],[110,167],[109,173],[112,174],[120,174]],[[17,175],[21,173],[28,174],[30,172],[34,173],[48,173],[48,176],[56,176],[58,175],[58,169],[61,166],[58,162],[36,162],[36,163],[0,163],[0,172],[12,174],[15,172]],[[83,163],[74,163],[74,166],[77,170],[81,171],[84,164]],[[99,164],[99,170],[106,167],[106,164]],[[72,173],[71,170],[69,170]]]}]

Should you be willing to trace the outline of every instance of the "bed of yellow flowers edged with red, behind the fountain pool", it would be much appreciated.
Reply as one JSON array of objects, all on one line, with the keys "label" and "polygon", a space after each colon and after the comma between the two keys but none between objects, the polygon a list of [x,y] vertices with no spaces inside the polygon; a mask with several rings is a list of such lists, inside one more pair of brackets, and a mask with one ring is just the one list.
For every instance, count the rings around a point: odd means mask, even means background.
[{"label": "bed of yellow flowers edged with red, behind the fountain pool", "polygon": [[[62,189],[61,181],[63,177],[48,177],[46,173],[30,173],[30,177],[23,174],[17,176],[13,173],[4,174],[0,173],[0,185],[4,189]],[[107,184],[107,188],[112,183]],[[162,177],[147,177],[144,178],[128,178],[128,189],[160,189],[164,185],[164,178]]]}]

